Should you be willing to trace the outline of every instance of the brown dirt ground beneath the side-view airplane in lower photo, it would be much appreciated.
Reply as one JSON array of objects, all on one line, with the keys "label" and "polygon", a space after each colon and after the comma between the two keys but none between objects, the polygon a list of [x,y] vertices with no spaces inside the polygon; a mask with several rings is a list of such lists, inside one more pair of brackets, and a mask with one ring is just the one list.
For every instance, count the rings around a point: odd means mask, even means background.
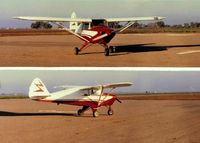
[{"label": "brown dirt ground beneath the side-view airplane in lower photo", "polygon": [[124,100],[93,118],[79,107],[0,100],[1,143],[199,143],[199,100]]}]

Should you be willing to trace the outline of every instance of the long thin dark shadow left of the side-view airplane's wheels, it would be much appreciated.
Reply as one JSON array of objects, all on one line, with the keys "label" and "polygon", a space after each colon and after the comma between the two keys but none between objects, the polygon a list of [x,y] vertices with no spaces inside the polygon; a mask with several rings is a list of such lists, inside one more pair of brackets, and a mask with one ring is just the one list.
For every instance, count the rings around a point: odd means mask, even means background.
[{"label": "long thin dark shadow left of the side-view airplane's wheels", "polygon": [[73,113],[16,113],[0,111],[0,116],[77,116]]}]

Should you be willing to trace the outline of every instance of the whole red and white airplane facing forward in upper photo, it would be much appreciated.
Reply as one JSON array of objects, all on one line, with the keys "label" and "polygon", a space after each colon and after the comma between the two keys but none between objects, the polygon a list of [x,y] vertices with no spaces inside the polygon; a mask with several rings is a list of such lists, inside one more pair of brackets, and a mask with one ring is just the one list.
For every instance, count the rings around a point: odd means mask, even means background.
[{"label": "whole red and white airplane facing forward in upper photo", "polygon": [[[93,44],[99,44],[105,48],[105,56],[109,56],[110,53],[115,51],[115,47],[108,46],[108,43],[114,38],[116,33],[120,33],[125,29],[132,26],[138,21],[159,21],[163,20],[164,17],[132,17],[132,18],[104,18],[104,19],[88,19],[88,18],[77,18],[73,12],[71,18],[53,18],[53,17],[30,17],[20,16],[15,19],[39,21],[39,22],[50,22],[58,25],[62,29],[70,32],[76,37],[84,41],[84,44],[77,48],[75,47],[75,54],[83,51],[87,47]],[[69,28],[64,26],[64,23],[69,22]],[[119,30],[109,28],[108,24],[111,22],[127,22],[124,27]]]}]

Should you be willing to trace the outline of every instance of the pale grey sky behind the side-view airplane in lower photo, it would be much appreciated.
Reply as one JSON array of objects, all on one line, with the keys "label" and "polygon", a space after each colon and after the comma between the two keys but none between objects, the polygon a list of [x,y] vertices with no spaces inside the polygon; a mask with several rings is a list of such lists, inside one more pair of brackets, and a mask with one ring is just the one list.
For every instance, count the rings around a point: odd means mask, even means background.
[{"label": "pale grey sky behind the side-view airplane in lower photo", "polygon": [[34,78],[40,78],[50,92],[55,86],[94,86],[116,82],[132,82],[130,87],[114,93],[200,92],[200,69],[157,68],[34,68],[1,69],[0,94],[28,94]]}]

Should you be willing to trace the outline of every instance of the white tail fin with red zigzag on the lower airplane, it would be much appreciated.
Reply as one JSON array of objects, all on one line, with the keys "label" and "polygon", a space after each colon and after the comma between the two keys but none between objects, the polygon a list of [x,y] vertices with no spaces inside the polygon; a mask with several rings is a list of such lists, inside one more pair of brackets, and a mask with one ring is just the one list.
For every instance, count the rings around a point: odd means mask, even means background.
[{"label": "white tail fin with red zigzag on the lower airplane", "polygon": [[48,96],[50,96],[50,93],[44,83],[39,78],[35,78],[29,87],[29,97],[31,99],[43,99]]}]

